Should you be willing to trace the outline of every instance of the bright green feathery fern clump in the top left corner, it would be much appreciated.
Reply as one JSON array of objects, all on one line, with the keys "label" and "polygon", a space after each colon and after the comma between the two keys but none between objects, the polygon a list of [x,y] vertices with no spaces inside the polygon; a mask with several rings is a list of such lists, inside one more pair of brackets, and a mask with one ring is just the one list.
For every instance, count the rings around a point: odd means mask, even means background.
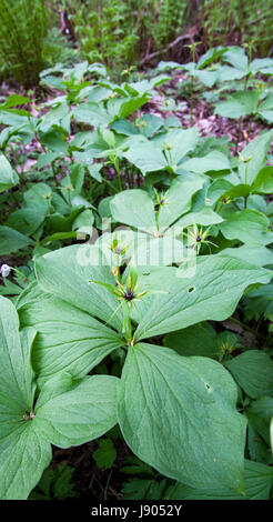
[{"label": "bright green feathery fern clump in the top left corner", "polygon": [[58,29],[59,14],[44,0],[0,1],[0,74],[29,89],[57,62],[72,64],[78,50]]}]

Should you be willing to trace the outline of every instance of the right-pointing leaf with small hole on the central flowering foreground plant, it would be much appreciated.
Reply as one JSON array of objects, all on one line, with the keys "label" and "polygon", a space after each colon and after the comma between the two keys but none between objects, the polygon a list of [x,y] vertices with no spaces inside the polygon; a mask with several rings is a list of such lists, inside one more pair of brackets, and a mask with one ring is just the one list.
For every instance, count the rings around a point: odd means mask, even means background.
[{"label": "right-pointing leaf with small hole on the central flowering foreground plant", "polygon": [[244,290],[266,283],[271,272],[225,255],[202,255],[196,268],[158,269],[143,275],[145,284],[168,291],[139,304],[142,320],[135,339],[146,339],[205,320],[223,321],[235,310]]}]

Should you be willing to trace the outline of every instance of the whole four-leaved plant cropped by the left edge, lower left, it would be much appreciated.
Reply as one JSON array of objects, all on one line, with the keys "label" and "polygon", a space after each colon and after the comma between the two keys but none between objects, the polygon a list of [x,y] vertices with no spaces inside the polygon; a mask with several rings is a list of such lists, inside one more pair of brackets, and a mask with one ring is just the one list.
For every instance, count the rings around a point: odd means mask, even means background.
[{"label": "whole four-leaved plant cropped by the left edge, lower left", "polygon": [[0,298],[0,498],[27,499],[50,462],[50,442],[68,448],[101,436],[117,423],[114,377],[73,380],[69,373],[47,381],[36,405],[30,365],[36,337],[23,329],[13,304]]}]

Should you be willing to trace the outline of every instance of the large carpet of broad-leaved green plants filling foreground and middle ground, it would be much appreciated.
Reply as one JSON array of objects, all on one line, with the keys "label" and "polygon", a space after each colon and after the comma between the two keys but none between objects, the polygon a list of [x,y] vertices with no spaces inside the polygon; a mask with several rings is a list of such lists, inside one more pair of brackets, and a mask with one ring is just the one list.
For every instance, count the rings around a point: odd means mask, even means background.
[{"label": "large carpet of broad-leaved green plants filling foreground and middle ground", "polygon": [[272,495],[273,130],[232,154],[149,112],[170,79],[55,66],[0,106],[1,499],[73,496],[51,446],[117,436],[124,499]]}]

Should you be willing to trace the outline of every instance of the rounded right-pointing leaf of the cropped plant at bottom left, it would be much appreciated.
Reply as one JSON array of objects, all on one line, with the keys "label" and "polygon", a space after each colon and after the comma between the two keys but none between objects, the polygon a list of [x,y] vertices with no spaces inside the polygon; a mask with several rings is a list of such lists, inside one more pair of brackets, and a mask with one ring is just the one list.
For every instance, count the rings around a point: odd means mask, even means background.
[{"label": "rounded right-pointing leaf of the cropped plant at bottom left", "polygon": [[[43,387],[36,404],[33,424],[44,439],[59,448],[70,448],[103,435],[117,423],[119,379],[85,377],[62,388],[69,375],[57,377]],[[60,388],[59,388],[60,387]]]}]

